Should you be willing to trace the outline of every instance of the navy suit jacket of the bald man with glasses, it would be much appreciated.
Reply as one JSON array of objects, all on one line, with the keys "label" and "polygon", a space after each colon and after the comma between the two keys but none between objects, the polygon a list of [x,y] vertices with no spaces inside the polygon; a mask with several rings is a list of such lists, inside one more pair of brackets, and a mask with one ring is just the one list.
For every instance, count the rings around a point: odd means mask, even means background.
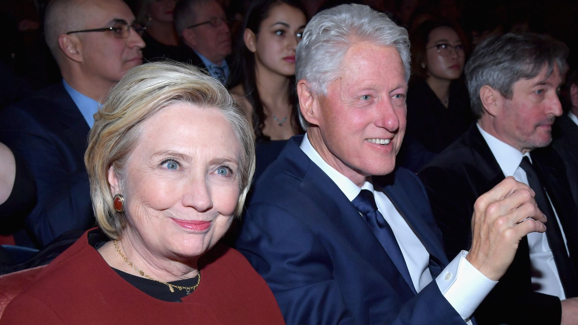
[{"label": "navy suit jacket of the bald man with glasses", "polygon": [[0,142],[23,157],[36,182],[38,202],[25,224],[38,246],[94,225],[84,167],[89,130],[62,83],[10,106],[0,117]]}]

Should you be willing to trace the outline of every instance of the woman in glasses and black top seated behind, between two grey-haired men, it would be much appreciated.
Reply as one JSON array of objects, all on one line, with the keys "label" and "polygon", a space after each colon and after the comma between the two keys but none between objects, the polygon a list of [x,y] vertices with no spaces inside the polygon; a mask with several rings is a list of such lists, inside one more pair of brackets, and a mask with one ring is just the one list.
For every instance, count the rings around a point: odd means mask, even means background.
[{"label": "woman in glasses and black top seated behind, between two grey-haired men", "polygon": [[466,44],[458,31],[451,24],[426,21],[410,33],[413,75],[406,134],[432,153],[454,142],[473,120],[461,80]]}]

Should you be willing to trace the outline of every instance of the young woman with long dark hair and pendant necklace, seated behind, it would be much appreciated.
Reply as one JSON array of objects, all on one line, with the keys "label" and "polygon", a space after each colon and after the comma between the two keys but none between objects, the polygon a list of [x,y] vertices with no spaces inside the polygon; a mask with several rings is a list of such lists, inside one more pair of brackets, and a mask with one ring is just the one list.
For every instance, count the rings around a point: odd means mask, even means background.
[{"label": "young woman with long dark hair and pendant necklace, seated behind", "polygon": [[284,140],[301,132],[295,48],[306,24],[305,9],[292,0],[256,1],[245,15],[231,93],[253,116],[257,141]]}]

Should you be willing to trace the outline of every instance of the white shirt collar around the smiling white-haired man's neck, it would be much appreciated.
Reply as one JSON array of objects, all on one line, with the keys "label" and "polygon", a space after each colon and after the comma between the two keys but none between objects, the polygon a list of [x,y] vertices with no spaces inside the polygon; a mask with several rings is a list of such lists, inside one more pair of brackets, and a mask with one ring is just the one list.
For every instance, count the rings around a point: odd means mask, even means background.
[{"label": "white shirt collar around the smiling white-haired man's neck", "polygon": [[373,184],[372,179],[369,177],[365,180],[365,183],[361,187],[361,189],[355,185],[355,183],[351,182],[349,178],[347,178],[342,173],[335,170],[335,168],[331,167],[323,158],[321,158],[320,154],[317,153],[317,150],[311,145],[309,142],[309,138],[307,138],[307,134],[303,136],[303,141],[301,142],[301,146],[299,148],[312,160],[317,167],[321,168],[321,170],[333,180],[333,182],[339,187],[339,189],[345,194],[349,201],[353,201],[358,194],[360,194],[361,190],[370,190],[373,193]]}]

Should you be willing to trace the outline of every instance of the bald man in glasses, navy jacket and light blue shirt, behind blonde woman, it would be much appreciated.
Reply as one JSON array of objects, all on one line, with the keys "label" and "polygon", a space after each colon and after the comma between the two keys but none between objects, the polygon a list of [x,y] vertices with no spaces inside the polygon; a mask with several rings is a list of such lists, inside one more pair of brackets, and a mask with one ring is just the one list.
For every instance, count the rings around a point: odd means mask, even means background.
[{"label": "bald man in glasses, navy jacket and light blue shirt, behind blonde woman", "polygon": [[3,228],[16,232],[17,245],[42,248],[65,232],[94,226],[84,167],[88,131],[110,89],[142,64],[142,31],[121,0],[53,0],[47,6],[45,39],[62,82],[0,116],[1,142],[23,157],[38,189],[30,215]]}]

